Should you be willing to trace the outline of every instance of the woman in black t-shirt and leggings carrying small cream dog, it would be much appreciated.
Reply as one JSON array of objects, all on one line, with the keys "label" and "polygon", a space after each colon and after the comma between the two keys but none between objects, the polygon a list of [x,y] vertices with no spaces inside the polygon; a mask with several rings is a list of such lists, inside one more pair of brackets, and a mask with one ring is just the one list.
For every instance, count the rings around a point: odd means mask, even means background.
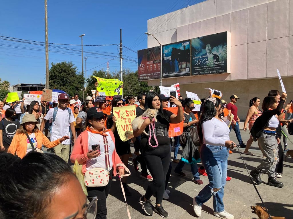
[{"label": "woman in black t-shirt and leggings carrying small cream dog", "polygon": [[[153,122],[152,119],[145,119],[141,128],[133,130],[135,137],[142,135],[140,142],[142,154],[146,161],[147,167],[154,178],[154,180],[149,183],[145,195],[140,197],[139,202],[147,215],[153,215],[151,200],[149,199],[152,195],[154,195],[156,197],[155,212],[164,218],[168,216],[168,213],[163,209],[161,204],[163,193],[165,191],[165,177],[171,159],[170,138],[168,136],[169,125],[170,123],[180,123],[183,119],[183,108],[181,102],[173,96],[171,96],[169,100],[172,104],[175,104],[178,107],[177,116],[170,111],[163,109],[159,94],[155,92],[147,93],[144,105],[145,110],[159,110],[158,115],[156,116],[157,121],[154,122],[154,131],[149,128],[149,125]],[[141,112],[141,114],[142,113],[143,112]],[[148,133],[148,135],[142,134],[144,130]],[[151,135],[150,140],[149,135]],[[156,140],[158,145],[156,144]]]}]

